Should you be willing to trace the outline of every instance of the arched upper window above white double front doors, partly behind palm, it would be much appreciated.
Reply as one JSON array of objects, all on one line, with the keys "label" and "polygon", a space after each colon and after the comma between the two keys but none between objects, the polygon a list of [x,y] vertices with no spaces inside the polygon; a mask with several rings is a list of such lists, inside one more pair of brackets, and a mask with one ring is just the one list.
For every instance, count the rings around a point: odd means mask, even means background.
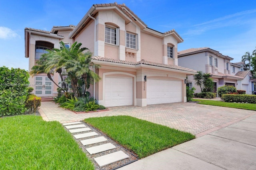
[{"label": "arched upper window above white double front doors, partly behind palm", "polygon": [[45,41],[36,41],[35,59],[39,60],[43,54],[49,53],[48,50],[54,48],[54,44]]}]

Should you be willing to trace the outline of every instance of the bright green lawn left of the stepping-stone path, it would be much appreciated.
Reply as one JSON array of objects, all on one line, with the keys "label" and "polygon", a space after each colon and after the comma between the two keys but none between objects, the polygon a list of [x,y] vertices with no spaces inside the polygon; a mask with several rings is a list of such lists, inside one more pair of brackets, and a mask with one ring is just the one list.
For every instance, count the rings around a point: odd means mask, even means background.
[{"label": "bright green lawn left of the stepping-stone path", "polygon": [[0,169],[93,170],[93,163],[60,123],[35,115],[0,118]]}]

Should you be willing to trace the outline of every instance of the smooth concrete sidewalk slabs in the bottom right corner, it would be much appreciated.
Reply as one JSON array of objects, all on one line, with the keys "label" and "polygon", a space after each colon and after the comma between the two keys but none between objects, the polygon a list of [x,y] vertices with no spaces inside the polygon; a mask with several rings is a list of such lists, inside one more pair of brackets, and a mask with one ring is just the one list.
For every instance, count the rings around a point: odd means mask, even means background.
[{"label": "smooth concrete sidewalk slabs in the bottom right corner", "polygon": [[118,170],[255,170],[256,115]]}]

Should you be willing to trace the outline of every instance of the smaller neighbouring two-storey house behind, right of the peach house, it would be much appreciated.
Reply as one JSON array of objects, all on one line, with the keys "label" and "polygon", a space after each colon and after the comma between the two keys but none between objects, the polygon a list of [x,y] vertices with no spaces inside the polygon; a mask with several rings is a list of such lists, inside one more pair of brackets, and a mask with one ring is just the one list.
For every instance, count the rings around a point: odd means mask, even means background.
[{"label": "smaller neighbouring two-storey house behind, right of the peach house", "polygon": [[[236,75],[236,72],[241,71],[244,67],[230,63],[233,59],[222,55],[219,51],[209,47],[187,49],[178,52],[178,60],[180,66],[210,73],[214,81],[213,92],[224,85],[234,86],[237,90],[242,90],[242,86],[238,86],[238,82],[244,80],[244,77]],[[187,86],[195,87],[196,93],[200,92],[200,87],[194,83],[193,76],[188,76]],[[246,92],[250,93],[250,90]]]}]

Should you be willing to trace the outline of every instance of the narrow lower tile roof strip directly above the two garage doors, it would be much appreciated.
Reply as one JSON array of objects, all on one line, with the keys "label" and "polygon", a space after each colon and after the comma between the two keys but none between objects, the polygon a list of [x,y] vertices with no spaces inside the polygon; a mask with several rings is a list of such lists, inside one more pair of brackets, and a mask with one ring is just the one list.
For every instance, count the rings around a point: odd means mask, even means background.
[{"label": "narrow lower tile roof strip directly above the two garage doors", "polygon": [[138,62],[132,62],[132,61],[123,61],[123,60],[118,60],[118,59],[109,59],[109,58],[106,58],[106,57],[94,56],[93,60],[107,61],[107,62],[113,62],[113,63],[122,63],[122,64],[130,64],[130,65],[146,64],[146,65],[152,65],[152,66],[160,66],[160,67],[164,67],[164,68],[172,68],[172,69],[176,69],[176,70],[196,72],[196,70],[192,70],[192,69],[189,69],[189,68],[176,66],[176,65],[171,65],[171,64],[154,63],[154,62],[151,62],[151,61],[145,61],[144,59],[142,59],[141,61],[138,61]]}]

